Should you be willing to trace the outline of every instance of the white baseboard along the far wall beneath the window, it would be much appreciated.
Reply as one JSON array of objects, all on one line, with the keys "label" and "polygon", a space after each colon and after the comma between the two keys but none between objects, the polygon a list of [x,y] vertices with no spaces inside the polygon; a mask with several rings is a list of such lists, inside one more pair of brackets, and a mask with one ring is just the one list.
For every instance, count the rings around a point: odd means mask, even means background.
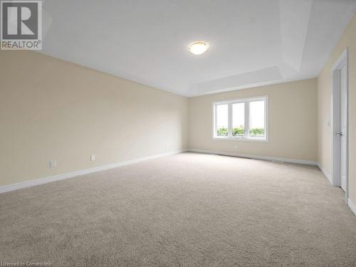
[{"label": "white baseboard along the far wall beneath the window", "polygon": [[260,156],[260,155],[249,155],[249,154],[240,154],[240,153],[235,153],[235,152],[225,152],[225,151],[217,151],[217,150],[189,149],[188,151],[205,153],[205,154],[224,155],[224,156],[247,157],[247,158],[250,158],[250,159],[271,160],[271,161],[276,161],[276,162],[288,162],[288,163],[297,163],[297,164],[318,165],[318,162],[313,162],[313,161],[304,160],[304,159],[286,159],[284,157],[269,157],[269,156]]}]

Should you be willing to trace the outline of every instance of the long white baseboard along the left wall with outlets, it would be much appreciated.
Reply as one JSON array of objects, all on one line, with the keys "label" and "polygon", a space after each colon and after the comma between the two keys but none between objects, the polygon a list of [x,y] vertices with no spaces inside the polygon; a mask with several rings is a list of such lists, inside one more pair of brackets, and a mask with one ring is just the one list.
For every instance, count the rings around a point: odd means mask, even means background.
[{"label": "long white baseboard along the left wall with outlets", "polygon": [[26,181],[26,182],[20,182],[20,183],[16,183],[16,184],[8,184],[8,185],[4,185],[2,187],[0,187],[0,193],[4,193],[4,192],[9,192],[9,191],[14,191],[17,189],[21,189],[21,188],[25,188],[25,187],[33,187],[35,185],[38,184],[46,184],[48,182],[54,182],[54,181],[59,181],[59,180],[63,180],[63,179],[68,179],[68,178],[72,178],[72,177],[77,177],[79,175],[83,175],[83,174],[90,174],[93,172],[100,172],[103,171],[105,169],[113,169],[113,168],[117,168],[117,167],[122,167],[128,164],[133,164],[133,163],[137,163],[137,162],[143,162],[145,160],[148,159],[156,159],[158,157],[165,157],[165,156],[169,156],[169,155],[174,155],[177,153],[181,153],[181,152],[186,152],[187,150],[177,150],[177,151],[173,151],[173,152],[168,152],[168,153],[163,153],[163,154],[158,154],[158,155],[152,155],[149,157],[140,157],[138,159],[130,159],[124,162],[117,162],[117,163],[112,163],[112,164],[108,164],[108,165],[103,165],[103,166],[98,166],[98,167],[93,167],[90,169],[81,169],[79,171],[75,171],[75,172],[66,172],[64,174],[58,174],[58,175],[54,175],[51,177],[44,177],[44,178],[40,178],[40,179],[34,179],[34,180],[30,180],[30,181]]}]

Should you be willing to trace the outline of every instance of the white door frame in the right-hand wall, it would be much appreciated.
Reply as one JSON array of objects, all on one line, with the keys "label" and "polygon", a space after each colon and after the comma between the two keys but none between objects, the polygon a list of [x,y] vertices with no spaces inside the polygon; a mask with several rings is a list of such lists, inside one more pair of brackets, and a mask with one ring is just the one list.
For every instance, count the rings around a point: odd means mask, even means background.
[{"label": "white door frame in the right-hand wall", "polygon": [[341,186],[341,140],[336,136],[337,132],[341,132],[341,88],[340,88],[340,70],[346,67],[346,190],[345,201],[349,196],[349,75],[348,75],[348,48],[346,48],[341,56],[337,59],[331,69],[331,181],[336,187]]}]

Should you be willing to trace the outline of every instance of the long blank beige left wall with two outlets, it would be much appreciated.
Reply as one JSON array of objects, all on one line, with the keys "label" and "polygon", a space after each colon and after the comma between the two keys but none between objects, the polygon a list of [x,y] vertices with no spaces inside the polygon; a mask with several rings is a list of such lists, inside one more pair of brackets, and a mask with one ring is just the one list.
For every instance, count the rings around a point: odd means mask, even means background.
[{"label": "long blank beige left wall with two outlets", "polygon": [[0,129],[1,186],[184,149],[187,98],[39,53],[1,51]]}]

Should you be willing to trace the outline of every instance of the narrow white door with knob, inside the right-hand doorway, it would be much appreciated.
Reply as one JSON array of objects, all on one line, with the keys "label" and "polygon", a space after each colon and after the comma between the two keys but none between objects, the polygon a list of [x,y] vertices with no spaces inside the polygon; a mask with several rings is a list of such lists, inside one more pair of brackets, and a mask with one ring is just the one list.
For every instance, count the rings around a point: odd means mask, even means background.
[{"label": "narrow white door with knob, inside the right-hand doorway", "polygon": [[347,176],[347,75],[346,66],[340,70],[340,93],[341,93],[341,188],[346,191]]}]

